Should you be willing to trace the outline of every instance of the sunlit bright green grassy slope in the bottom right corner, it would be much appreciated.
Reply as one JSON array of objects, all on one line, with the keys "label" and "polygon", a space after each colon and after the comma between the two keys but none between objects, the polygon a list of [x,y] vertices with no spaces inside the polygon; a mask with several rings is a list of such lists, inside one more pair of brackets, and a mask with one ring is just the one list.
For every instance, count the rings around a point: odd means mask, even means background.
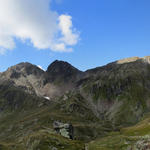
[{"label": "sunlit bright green grassy slope in the bottom right corner", "polygon": [[148,150],[150,148],[150,114],[136,125],[111,132],[87,144],[89,150]]}]

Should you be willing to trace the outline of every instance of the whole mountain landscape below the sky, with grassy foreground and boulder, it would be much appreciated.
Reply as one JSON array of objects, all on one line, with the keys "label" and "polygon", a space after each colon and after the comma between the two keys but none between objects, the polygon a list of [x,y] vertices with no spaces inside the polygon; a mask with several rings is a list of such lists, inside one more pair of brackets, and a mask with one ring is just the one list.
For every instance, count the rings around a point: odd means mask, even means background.
[{"label": "whole mountain landscape below the sky, with grassy foreground and boulder", "polygon": [[150,56],[0,73],[1,150],[150,149]]}]

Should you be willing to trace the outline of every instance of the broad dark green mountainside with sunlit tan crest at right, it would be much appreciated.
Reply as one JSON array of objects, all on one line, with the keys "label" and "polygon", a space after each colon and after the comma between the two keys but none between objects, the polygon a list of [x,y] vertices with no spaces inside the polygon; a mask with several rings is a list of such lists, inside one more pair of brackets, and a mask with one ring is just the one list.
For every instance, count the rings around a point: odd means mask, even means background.
[{"label": "broad dark green mountainside with sunlit tan crest at right", "polygon": [[88,70],[80,93],[97,116],[132,124],[150,111],[149,74],[149,57],[124,59]]}]

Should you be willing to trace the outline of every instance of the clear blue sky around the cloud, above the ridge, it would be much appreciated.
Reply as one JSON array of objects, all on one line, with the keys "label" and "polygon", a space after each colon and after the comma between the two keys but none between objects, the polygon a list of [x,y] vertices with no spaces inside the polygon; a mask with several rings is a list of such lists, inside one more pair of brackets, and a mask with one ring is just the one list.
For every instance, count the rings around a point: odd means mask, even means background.
[{"label": "clear blue sky around the cloud, above the ridge", "polygon": [[0,71],[20,62],[46,69],[56,59],[86,70],[125,57],[150,55],[149,0],[58,1],[51,2],[51,11],[71,16],[73,27],[80,32],[73,51],[40,50],[16,38],[16,47],[0,55]]}]

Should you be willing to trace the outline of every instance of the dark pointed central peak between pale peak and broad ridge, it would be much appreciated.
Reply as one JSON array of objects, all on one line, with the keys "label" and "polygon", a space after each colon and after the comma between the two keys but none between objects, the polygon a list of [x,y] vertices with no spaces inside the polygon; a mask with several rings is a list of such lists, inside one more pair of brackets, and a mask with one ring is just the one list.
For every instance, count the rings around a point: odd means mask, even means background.
[{"label": "dark pointed central peak between pale peak and broad ridge", "polygon": [[[71,64],[64,61],[54,61],[50,64],[45,72],[44,85],[51,84],[54,87],[54,92],[49,94],[49,97],[61,96],[65,92],[73,90],[76,82],[83,76],[83,72],[73,67]],[[49,89],[51,89],[49,86]]]}]

